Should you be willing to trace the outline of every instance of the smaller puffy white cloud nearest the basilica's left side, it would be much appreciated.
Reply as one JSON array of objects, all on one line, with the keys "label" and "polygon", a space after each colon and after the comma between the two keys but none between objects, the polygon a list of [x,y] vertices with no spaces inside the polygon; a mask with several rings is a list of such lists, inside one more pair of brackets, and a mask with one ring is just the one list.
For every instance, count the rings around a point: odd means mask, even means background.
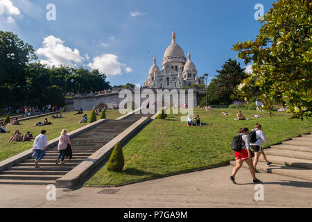
[{"label": "smaller puffy white cloud nearest the basilica's left side", "polygon": [[119,62],[118,56],[114,54],[103,54],[95,57],[88,66],[92,69],[98,69],[107,76],[121,75],[122,69],[125,69],[126,72],[132,71],[131,67],[126,67],[126,64]]}]

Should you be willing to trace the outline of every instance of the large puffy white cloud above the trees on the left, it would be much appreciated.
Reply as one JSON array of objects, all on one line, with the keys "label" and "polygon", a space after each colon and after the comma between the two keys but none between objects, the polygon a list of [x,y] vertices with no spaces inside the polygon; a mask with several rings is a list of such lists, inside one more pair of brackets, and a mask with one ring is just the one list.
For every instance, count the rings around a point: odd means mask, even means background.
[{"label": "large puffy white cloud above the trees on the left", "polygon": [[[76,67],[77,63],[84,60],[84,58],[80,56],[78,49],[71,49],[64,46],[64,41],[53,35],[44,37],[42,44],[43,47],[36,51],[39,56],[44,56],[46,58],[46,60],[40,61],[42,64],[49,66],[65,65],[68,67]],[[87,58],[87,56],[85,57]]]}]

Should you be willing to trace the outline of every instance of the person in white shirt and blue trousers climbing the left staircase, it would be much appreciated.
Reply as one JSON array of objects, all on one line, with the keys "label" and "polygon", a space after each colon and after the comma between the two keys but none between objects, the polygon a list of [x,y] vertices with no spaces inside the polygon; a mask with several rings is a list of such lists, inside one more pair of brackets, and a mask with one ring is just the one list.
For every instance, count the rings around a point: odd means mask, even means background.
[{"label": "person in white shirt and blue trousers climbing the left staircase", "polygon": [[39,168],[38,162],[46,155],[46,147],[48,139],[46,138],[46,130],[42,130],[40,135],[37,135],[33,142],[33,156],[37,156],[35,160],[35,168]]}]

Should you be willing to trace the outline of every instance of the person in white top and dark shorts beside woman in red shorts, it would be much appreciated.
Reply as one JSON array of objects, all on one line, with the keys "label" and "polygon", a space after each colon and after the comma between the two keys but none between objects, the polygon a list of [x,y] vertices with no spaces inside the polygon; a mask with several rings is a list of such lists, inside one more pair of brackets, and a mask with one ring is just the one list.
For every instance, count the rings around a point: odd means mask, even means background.
[{"label": "person in white top and dark shorts beside woman in red shorts", "polygon": [[266,161],[266,165],[270,166],[272,162],[268,162],[266,159],[266,154],[264,154],[263,148],[262,148],[262,143],[266,142],[266,144],[269,144],[268,139],[266,139],[266,135],[261,130],[262,126],[259,123],[256,123],[254,126],[254,129],[250,133],[250,146],[254,150],[254,169],[257,173],[256,167],[259,161],[259,157],[262,154],[263,160]]}]

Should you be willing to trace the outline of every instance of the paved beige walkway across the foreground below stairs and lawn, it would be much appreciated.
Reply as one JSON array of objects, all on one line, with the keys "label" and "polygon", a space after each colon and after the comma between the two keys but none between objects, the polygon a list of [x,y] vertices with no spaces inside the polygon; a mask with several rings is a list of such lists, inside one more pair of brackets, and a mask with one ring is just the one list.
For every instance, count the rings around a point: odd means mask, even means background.
[{"label": "paved beige walkway across the foreground below stairs and lawn", "polygon": [[[116,188],[57,189],[55,201],[46,200],[46,187],[0,185],[0,207],[312,207],[312,182],[272,173],[257,173],[264,200],[254,200],[248,169],[229,181],[233,167],[220,167],[140,182]],[[116,194],[99,194],[103,191]]]}]

